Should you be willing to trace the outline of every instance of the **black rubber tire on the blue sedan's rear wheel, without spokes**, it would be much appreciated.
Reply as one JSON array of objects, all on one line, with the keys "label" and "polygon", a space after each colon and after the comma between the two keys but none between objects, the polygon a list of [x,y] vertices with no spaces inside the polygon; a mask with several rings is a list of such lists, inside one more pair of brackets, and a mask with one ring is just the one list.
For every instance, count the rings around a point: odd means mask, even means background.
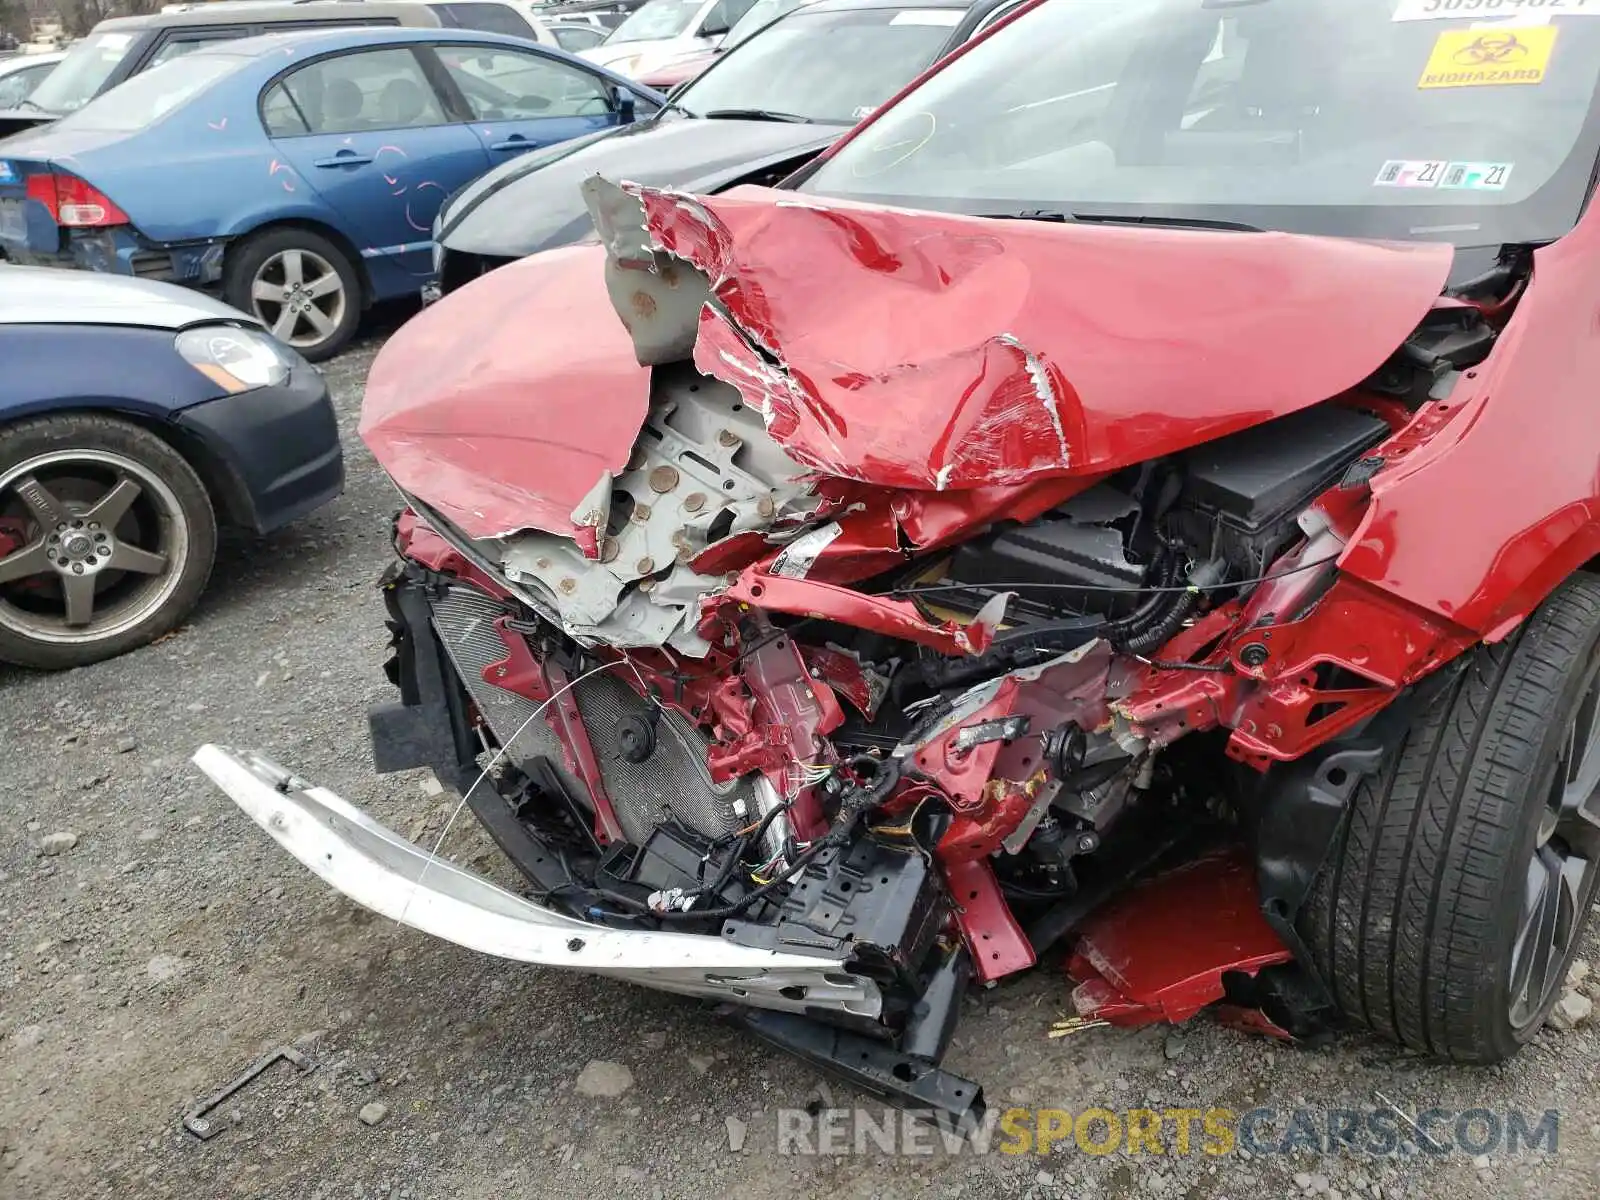
[{"label": "black rubber tire on the blue sedan's rear wheel, without spokes", "polygon": [[[275,264],[283,262],[285,258],[299,258],[307,266],[318,264],[318,270],[325,266],[338,278],[339,304],[333,312],[326,312],[330,306],[323,304],[325,296],[306,296],[301,299],[285,294],[282,301],[261,301],[256,298],[254,290],[258,282],[262,285],[278,283],[282,272],[275,270]],[[318,274],[317,278],[320,277]],[[283,280],[283,285],[286,288],[290,282]],[[293,346],[301,357],[314,363],[331,358],[350,342],[362,322],[362,309],[366,302],[362,272],[357,270],[350,256],[334,245],[331,238],[299,226],[262,229],[243,238],[238,245],[230,246],[227,262],[222,269],[222,298],[235,309],[256,317],[274,336]],[[326,320],[330,328],[317,334],[314,341],[301,339],[293,331],[285,334],[280,325],[285,301],[317,306],[315,314],[310,309],[301,314],[294,326],[296,330],[310,330],[314,315]],[[306,334],[306,338],[314,334]]]}]

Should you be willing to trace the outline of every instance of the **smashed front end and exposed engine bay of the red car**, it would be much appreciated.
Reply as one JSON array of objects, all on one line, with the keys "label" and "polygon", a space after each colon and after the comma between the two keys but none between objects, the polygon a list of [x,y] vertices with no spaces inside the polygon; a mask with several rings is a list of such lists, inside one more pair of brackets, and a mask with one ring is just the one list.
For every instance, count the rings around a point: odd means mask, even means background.
[{"label": "smashed front end and exposed engine bay of the red car", "polygon": [[[710,947],[656,978],[626,949],[574,965],[731,1000],[822,1064],[859,1053],[853,1078],[896,1099],[968,1110],[978,1090],[938,1070],[965,984],[1069,934],[1085,1016],[1224,1000],[1288,1032],[1325,1019],[1294,914],[1330,797],[1373,762],[1352,739],[1475,638],[1339,560],[1373,480],[1448,419],[1525,269],[1490,296],[1422,294],[1363,378],[1150,458],[1069,432],[1066,379],[1000,334],[981,352],[1010,365],[1000,424],[930,464],[930,486],[886,486],[829,469],[805,424],[821,384],[736,320],[726,264],[690,245],[722,245],[715,218],[640,189],[590,200],[650,368],[638,434],[565,530],[435,506],[386,464],[408,507],[379,770],[434,766],[568,933]],[[954,486],[984,437],[1021,445],[1026,470]],[[1109,448],[1080,464],[1094,437]],[[1222,856],[1189,880],[1251,909],[1234,968],[1139,992],[1096,910],[1173,846],[1240,832],[1254,866]],[[587,955],[592,936],[566,946]],[[544,942],[515,957],[560,962]]]}]

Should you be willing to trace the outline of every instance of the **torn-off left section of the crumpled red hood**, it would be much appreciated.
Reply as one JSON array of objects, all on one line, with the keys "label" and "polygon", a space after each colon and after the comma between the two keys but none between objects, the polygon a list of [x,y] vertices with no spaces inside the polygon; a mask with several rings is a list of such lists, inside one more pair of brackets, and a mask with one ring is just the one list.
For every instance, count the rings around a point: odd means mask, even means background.
[{"label": "torn-off left section of the crumpled red hood", "polygon": [[594,245],[490,272],[424,309],[373,363],[362,438],[472,538],[571,512],[638,437],[650,371],[611,314]]}]

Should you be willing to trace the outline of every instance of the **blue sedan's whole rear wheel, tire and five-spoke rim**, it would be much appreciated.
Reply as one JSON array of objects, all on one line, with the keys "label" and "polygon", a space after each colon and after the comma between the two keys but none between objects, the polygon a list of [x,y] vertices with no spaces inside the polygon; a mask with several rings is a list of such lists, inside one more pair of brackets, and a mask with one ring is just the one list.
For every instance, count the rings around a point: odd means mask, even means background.
[{"label": "blue sedan's whole rear wheel, tire and five-spoke rim", "polygon": [[349,256],[310,229],[266,229],[227,258],[227,302],[310,362],[331,358],[362,320],[362,277]]}]

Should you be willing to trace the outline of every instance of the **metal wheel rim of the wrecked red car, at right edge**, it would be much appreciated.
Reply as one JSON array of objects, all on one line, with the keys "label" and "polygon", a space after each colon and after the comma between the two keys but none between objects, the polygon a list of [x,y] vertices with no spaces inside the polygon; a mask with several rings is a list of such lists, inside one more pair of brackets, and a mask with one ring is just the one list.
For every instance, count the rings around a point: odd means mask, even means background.
[{"label": "metal wheel rim of the wrecked red car, at right edge", "polygon": [[1523,875],[1510,962],[1510,1022],[1526,1029],[1565,982],[1600,864],[1600,662],[1562,739]]}]

